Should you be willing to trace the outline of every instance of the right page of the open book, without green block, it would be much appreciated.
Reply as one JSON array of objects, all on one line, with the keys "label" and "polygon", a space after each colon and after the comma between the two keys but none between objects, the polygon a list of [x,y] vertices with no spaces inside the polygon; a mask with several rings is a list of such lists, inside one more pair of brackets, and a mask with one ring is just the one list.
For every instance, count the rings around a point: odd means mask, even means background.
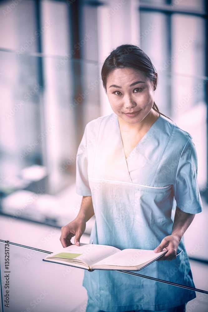
[{"label": "right page of the open book, without green block", "polygon": [[146,262],[151,262],[162,255],[164,251],[155,253],[153,250],[145,249],[124,249],[119,253],[110,256],[108,259],[104,259],[97,263],[98,266],[140,266]]}]

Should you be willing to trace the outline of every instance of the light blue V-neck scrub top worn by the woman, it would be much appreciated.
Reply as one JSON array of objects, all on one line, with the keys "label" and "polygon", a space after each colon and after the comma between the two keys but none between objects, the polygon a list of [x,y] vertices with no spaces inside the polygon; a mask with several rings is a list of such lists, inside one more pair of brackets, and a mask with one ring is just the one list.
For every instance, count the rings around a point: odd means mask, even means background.
[{"label": "light blue V-neck scrub top worn by the woman", "polygon": [[[176,204],[184,212],[201,212],[196,176],[191,135],[168,119],[160,116],[127,159],[117,115],[89,122],[77,153],[76,191],[92,195],[96,222],[90,243],[153,250],[171,234]],[[194,287],[183,239],[177,254],[139,273]],[[164,310],[196,297],[115,271],[85,271],[83,285],[100,310],[112,312]]]}]

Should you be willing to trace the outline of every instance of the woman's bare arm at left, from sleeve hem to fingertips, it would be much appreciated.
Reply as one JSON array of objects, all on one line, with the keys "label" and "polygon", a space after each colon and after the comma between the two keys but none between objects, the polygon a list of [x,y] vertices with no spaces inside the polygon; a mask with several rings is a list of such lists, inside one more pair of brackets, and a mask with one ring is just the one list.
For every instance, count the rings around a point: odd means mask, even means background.
[{"label": "woman's bare arm at left, from sleeve hem to fingertips", "polygon": [[85,232],[86,222],[93,215],[92,196],[83,196],[80,211],[75,220],[61,228],[60,241],[63,247],[72,245],[73,236],[75,236],[75,245],[80,246],[80,237]]}]

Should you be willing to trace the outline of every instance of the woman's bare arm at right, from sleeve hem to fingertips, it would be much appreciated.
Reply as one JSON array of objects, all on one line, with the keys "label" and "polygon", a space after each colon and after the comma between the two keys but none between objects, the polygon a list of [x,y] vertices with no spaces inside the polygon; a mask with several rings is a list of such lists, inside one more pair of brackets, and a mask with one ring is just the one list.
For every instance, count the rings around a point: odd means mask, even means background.
[{"label": "woman's bare arm at right, from sleeve hem to fingertips", "polygon": [[167,249],[167,253],[158,260],[176,259],[178,245],[181,241],[183,234],[190,226],[194,217],[195,214],[183,212],[181,211],[181,209],[176,207],[176,213],[171,235],[164,237],[160,245],[157,246],[154,250],[154,252],[159,252],[162,251],[163,248]]}]

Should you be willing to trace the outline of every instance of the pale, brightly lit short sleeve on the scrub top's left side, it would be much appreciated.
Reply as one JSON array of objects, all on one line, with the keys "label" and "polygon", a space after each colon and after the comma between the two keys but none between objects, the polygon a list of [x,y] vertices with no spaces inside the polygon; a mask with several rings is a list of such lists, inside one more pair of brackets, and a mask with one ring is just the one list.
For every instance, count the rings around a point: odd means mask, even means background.
[{"label": "pale, brightly lit short sleeve on the scrub top's left side", "polygon": [[82,196],[92,195],[88,182],[87,127],[76,156],[76,193]]}]

